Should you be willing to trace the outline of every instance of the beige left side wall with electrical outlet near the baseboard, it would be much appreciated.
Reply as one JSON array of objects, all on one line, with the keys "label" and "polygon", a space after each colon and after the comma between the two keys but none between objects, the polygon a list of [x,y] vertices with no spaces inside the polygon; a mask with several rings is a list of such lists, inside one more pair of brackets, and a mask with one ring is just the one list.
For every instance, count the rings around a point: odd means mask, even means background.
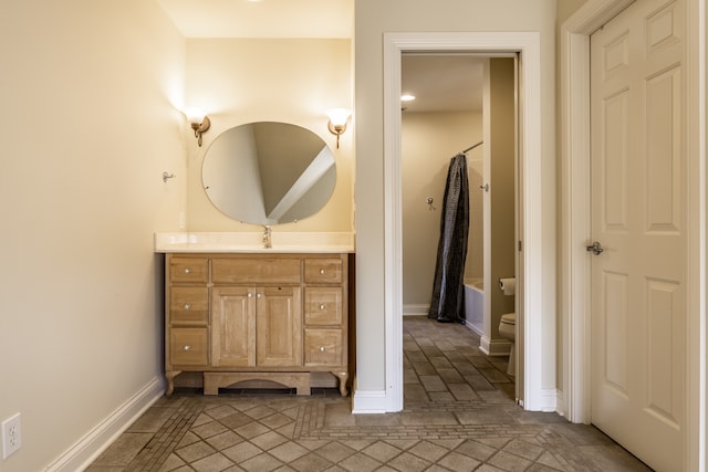
[{"label": "beige left side wall with electrical outlet near the baseboard", "polygon": [[186,201],[184,39],[156,2],[25,0],[0,14],[0,420],[43,470],[162,382],[156,230]]}]

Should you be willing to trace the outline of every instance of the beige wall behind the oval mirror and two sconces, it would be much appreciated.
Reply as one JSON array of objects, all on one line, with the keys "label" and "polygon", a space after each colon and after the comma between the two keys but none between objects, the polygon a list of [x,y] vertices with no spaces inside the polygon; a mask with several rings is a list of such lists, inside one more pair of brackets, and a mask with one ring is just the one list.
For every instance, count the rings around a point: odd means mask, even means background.
[{"label": "beige wall behind the oval mirror and two sconces", "polygon": [[211,128],[204,146],[188,143],[187,229],[254,231],[231,220],[208,200],[201,164],[220,133],[251,122],[283,122],[310,129],[332,148],[337,179],[334,193],[319,213],[273,231],[353,231],[354,126],[336,149],[326,111],[352,107],[350,40],[189,39],[186,103],[208,112]]}]

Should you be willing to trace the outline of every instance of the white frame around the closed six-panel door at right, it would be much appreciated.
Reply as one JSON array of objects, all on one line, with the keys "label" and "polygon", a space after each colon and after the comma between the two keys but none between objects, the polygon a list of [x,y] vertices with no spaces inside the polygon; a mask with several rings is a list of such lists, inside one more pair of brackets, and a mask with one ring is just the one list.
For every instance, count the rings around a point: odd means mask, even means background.
[{"label": "white frame around the closed six-panel door at right", "polygon": [[[634,0],[589,0],[560,31],[561,55],[561,412],[591,421],[590,35]],[[687,346],[685,470],[706,465],[706,10],[686,0],[687,123]]]}]

